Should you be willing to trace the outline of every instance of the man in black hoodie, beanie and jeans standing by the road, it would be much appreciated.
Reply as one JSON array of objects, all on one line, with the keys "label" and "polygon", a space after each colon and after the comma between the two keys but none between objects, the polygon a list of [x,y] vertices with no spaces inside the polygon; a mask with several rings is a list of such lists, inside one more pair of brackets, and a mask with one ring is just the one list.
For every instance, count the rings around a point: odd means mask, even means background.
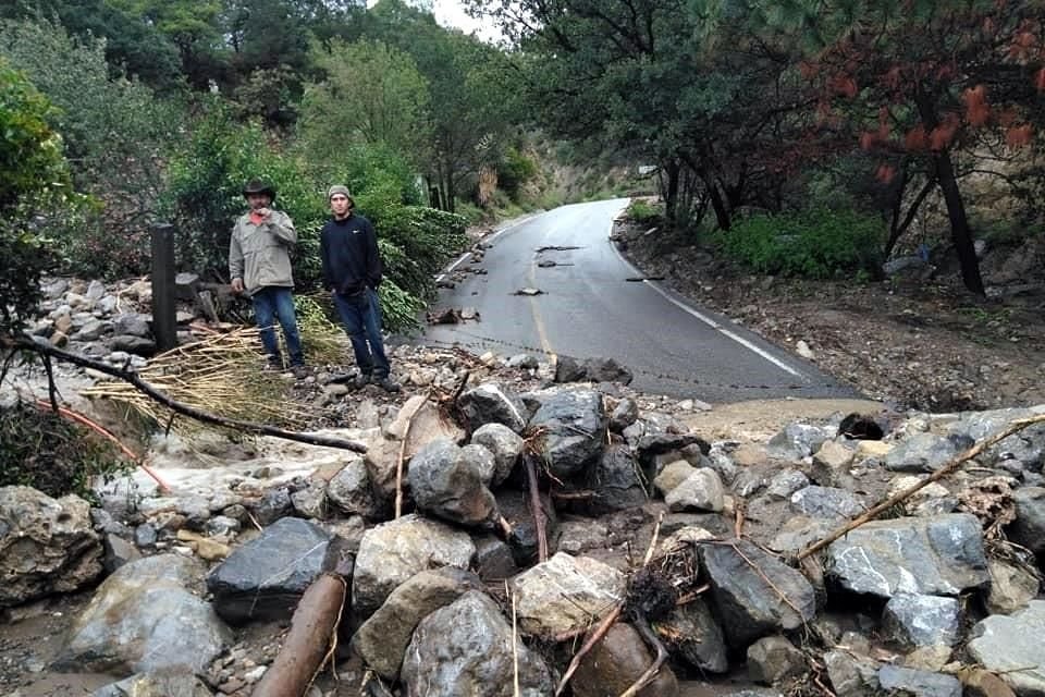
[{"label": "man in black hoodie, beanie and jeans standing by the road", "polygon": [[373,382],[389,392],[398,392],[399,386],[390,376],[381,338],[378,236],[369,220],[353,212],[356,203],[346,186],[331,186],[327,200],[334,217],[323,225],[319,237],[323,279],[334,295],[334,305],[356,354],[356,387]]}]

